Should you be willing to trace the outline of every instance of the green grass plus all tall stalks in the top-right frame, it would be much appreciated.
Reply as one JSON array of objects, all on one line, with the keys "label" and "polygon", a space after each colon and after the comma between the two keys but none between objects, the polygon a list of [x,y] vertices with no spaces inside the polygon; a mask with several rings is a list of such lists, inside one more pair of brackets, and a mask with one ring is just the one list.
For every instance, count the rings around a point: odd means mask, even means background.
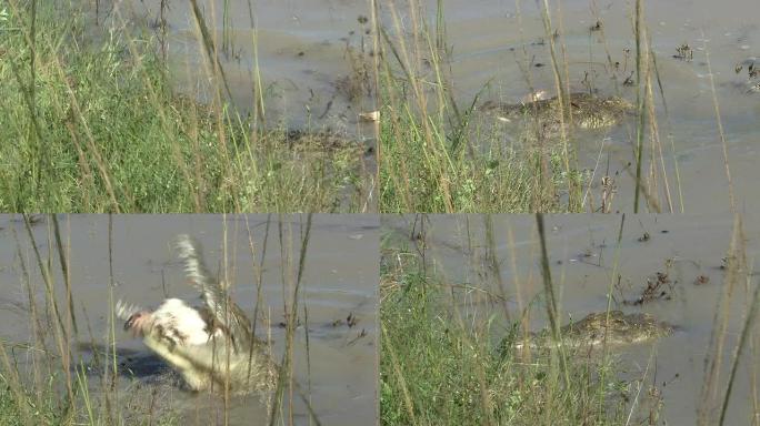
[{"label": "green grass plus all tall stalks in the top-right frame", "polygon": [[[521,2],[516,2],[518,29],[523,39]],[[681,194],[681,182],[676,159],[676,145],[663,149],[656,112],[653,75],[658,75],[659,94],[664,103],[664,91],[659,80],[657,63],[646,32],[642,8],[636,3],[631,11],[631,33],[636,38],[637,120],[631,141],[631,163],[634,164],[633,210],[639,211],[642,197],[647,210],[674,212],[683,209],[671,187]],[[437,2],[436,13],[428,14],[426,6],[411,1],[403,9],[397,3],[384,6],[384,27],[379,30],[383,120],[381,129],[380,209],[382,212],[581,212],[597,211],[591,189],[602,186],[604,194],[616,191],[611,176],[597,170],[586,171],[578,161],[579,140],[573,128],[570,87],[569,52],[564,43],[561,9],[549,1],[537,2],[543,23],[543,38],[558,97],[559,136],[557,140],[528,140],[504,143],[498,125],[484,125],[478,106],[487,87],[473,99],[461,99],[456,93],[451,72],[452,47],[446,38],[443,3]],[[402,18],[403,16],[403,18]],[[426,17],[431,16],[433,22]],[[554,22],[559,22],[557,26]],[[601,37],[604,38],[603,31]],[[607,45],[607,40],[604,45]],[[609,57],[609,49],[607,50]],[[531,57],[522,49],[516,55],[522,75],[510,75],[512,82],[524,81],[534,91]],[[608,62],[612,64],[611,58]],[[608,68],[617,82],[617,70]],[[483,82],[483,84],[487,84]],[[616,94],[616,93],[609,93]],[[600,94],[600,95],[609,95]],[[538,126],[537,126],[538,130]],[[520,136],[518,135],[518,139]],[[649,140],[650,144],[644,142]],[[672,140],[671,140],[672,142]],[[600,158],[603,152],[600,149]],[[667,164],[676,169],[676,180],[669,176]],[[609,169],[609,166],[608,166]],[[608,171],[609,172],[609,171]],[[610,199],[604,212],[613,211]]]}]

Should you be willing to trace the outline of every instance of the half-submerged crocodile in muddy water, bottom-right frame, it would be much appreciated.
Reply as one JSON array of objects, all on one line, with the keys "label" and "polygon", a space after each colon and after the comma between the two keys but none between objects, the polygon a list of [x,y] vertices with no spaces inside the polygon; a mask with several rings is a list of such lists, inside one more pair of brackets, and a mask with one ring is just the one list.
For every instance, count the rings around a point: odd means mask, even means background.
[{"label": "half-submerged crocodile in muddy water, bottom-right frame", "polygon": [[[624,314],[621,311],[610,311],[609,323],[607,312],[593,313],[583,320],[562,326],[560,336],[568,346],[603,344],[618,346],[654,341],[672,334],[674,329],[672,325],[659,322],[650,314]],[[514,347],[519,349],[526,345],[531,348],[541,348],[552,346],[553,339],[548,331],[543,331],[518,341]]]}]

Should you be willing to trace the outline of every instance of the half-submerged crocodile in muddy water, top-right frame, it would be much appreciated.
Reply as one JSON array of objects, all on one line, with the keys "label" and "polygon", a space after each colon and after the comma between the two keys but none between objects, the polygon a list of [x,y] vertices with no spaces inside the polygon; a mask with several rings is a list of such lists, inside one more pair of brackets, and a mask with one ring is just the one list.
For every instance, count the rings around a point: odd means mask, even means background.
[{"label": "half-submerged crocodile in muddy water, top-right frame", "polygon": [[[566,111],[566,124],[584,130],[611,128],[634,111],[633,104],[620,97],[601,98],[582,92],[571,93],[569,105],[570,116]],[[501,121],[526,124],[524,133],[528,136],[537,134],[537,121],[540,124],[538,129],[541,130],[539,134],[544,139],[556,139],[561,134],[563,109],[560,108],[558,97],[512,104],[488,101],[480,109],[496,114]]]}]

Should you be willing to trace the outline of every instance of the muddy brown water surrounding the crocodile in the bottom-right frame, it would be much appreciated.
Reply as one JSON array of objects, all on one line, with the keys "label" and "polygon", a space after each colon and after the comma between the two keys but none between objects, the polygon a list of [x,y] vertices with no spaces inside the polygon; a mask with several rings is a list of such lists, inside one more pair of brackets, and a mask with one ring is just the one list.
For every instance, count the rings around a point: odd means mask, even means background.
[{"label": "muddy brown water surrounding the crocodile in the bottom-right frame", "polygon": [[[468,222],[469,220],[469,222]],[[411,246],[408,239],[413,216],[383,217],[383,227],[393,231],[397,244]],[[626,219],[620,252],[620,284],[612,292],[612,308],[627,313],[648,312],[660,321],[677,326],[677,332],[656,344],[626,346],[614,349],[620,356],[623,376],[640,379],[644,376],[649,356],[654,349],[654,362],[646,373],[648,383],[654,382],[662,393],[663,412],[658,424],[696,424],[700,389],[704,379],[704,357],[710,346],[710,334],[718,301],[726,290],[726,272],[721,260],[731,241],[732,220],[729,216],[701,215],[673,217],[628,216]],[[613,280],[613,261],[620,216],[561,215],[546,219],[548,250],[552,277],[560,302],[563,323],[570,317],[580,320],[592,312],[607,308],[607,293]],[[760,258],[760,229],[747,224],[744,243],[748,263],[757,265]],[[420,226],[418,222],[417,231]],[[503,282],[500,287],[497,274],[486,261],[483,217],[431,216],[426,223],[427,256],[447,282],[467,283],[488,290],[493,298],[482,292],[458,292],[463,312],[481,321],[489,315],[503,313],[500,297],[517,317],[520,306],[533,303],[531,328],[546,325],[546,311],[536,300],[542,291],[539,270],[540,248],[537,241],[536,221],[532,216],[501,215],[493,217],[496,255],[500,261]],[[510,234],[511,232],[511,234]],[[644,233],[648,241],[639,241]],[[657,273],[666,273],[669,283],[662,286],[661,298],[643,305],[627,304],[641,296],[648,280],[657,281]],[[698,278],[703,276],[700,282]],[[723,356],[729,359],[737,344],[740,324],[747,313],[750,292],[758,283],[753,275],[749,283],[739,282],[730,304],[729,326]],[[659,292],[658,292],[659,295]],[[503,314],[500,315],[503,317]],[[508,324],[508,322],[503,322]],[[507,328],[504,328],[507,329]],[[754,342],[759,331],[754,327]],[[728,361],[720,369],[720,392],[728,377]],[[726,424],[750,424],[752,413],[751,375],[758,375],[760,356],[746,351],[739,365]],[[754,368],[752,368],[754,367]],[[641,402],[644,403],[642,393]],[[757,417],[754,417],[757,418]]]}]

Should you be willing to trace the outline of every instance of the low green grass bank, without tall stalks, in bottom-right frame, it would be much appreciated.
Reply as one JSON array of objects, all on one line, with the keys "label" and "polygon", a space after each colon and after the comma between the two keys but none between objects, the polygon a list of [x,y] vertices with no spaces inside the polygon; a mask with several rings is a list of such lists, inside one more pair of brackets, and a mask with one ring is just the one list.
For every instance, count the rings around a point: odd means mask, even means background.
[{"label": "low green grass bank, without tall stalks, in bottom-right frame", "polygon": [[567,353],[566,382],[559,354],[520,354],[517,328],[471,321],[458,307],[466,291],[426,275],[417,256],[388,252],[383,267],[383,425],[624,423],[636,389],[613,363]]}]

